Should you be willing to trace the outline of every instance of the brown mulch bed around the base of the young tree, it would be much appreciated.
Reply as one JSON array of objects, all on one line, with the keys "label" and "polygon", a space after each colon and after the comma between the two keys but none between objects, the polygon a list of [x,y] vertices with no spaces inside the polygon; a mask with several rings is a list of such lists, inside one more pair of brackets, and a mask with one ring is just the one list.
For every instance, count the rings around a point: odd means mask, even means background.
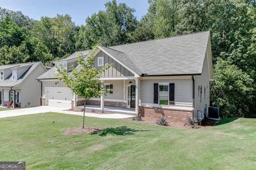
[{"label": "brown mulch bed around the base of the young tree", "polygon": [[63,133],[65,135],[74,135],[74,134],[90,134],[99,132],[101,129],[98,128],[92,128],[92,127],[76,127],[76,128],[68,128]]}]

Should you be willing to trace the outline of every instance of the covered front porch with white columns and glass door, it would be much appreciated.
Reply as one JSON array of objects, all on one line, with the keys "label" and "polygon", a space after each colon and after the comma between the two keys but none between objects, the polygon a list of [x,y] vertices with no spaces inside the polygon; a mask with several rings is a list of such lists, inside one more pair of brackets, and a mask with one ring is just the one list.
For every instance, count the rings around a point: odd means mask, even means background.
[{"label": "covered front porch with white columns and glass door", "polygon": [[[105,111],[111,113],[139,113],[140,80],[135,77],[101,78],[105,88],[112,89],[112,92],[102,95],[100,98],[86,100],[86,108],[89,111]],[[74,107],[82,109],[84,99],[74,95]],[[87,109],[86,109],[87,111]]]}]

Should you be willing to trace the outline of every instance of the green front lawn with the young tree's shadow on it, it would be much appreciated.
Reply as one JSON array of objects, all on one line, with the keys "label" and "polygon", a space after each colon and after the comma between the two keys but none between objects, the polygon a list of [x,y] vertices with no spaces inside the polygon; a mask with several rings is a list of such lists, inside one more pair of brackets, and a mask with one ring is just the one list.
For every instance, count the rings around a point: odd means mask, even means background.
[{"label": "green front lawn with the young tree's shadow on it", "polygon": [[0,160],[26,161],[27,169],[255,169],[255,119],[172,129],[86,117],[103,131],[63,135],[81,121],[58,113],[1,118]]}]

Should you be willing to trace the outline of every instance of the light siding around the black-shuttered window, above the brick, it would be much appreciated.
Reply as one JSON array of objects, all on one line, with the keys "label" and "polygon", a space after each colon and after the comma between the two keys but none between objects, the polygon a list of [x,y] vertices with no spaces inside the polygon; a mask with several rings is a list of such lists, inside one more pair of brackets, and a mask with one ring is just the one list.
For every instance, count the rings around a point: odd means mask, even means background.
[{"label": "light siding around the black-shuttered window, above the brick", "polygon": [[141,104],[154,104],[154,83],[174,83],[174,102],[177,106],[192,106],[192,79],[140,80]]}]

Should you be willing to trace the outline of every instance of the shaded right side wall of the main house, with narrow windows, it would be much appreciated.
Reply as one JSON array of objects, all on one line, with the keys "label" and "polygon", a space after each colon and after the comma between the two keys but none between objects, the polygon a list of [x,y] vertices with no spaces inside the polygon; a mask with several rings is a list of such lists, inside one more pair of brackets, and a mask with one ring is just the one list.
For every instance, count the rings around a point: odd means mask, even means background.
[{"label": "shaded right side wall of the main house, with narrow windows", "polygon": [[[202,101],[200,101],[200,89],[202,86]],[[198,90],[199,87],[199,90]],[[205,87],[205,99],[204,99]],[[204,113],[205,104],[210,105],[210,78],[207,55],[205,55],[202,74],[195,77],[195,113],[202,111]],[[208,111],[207,111],[208,112]],[[195,114],[196,116],[197,114]]]}]

